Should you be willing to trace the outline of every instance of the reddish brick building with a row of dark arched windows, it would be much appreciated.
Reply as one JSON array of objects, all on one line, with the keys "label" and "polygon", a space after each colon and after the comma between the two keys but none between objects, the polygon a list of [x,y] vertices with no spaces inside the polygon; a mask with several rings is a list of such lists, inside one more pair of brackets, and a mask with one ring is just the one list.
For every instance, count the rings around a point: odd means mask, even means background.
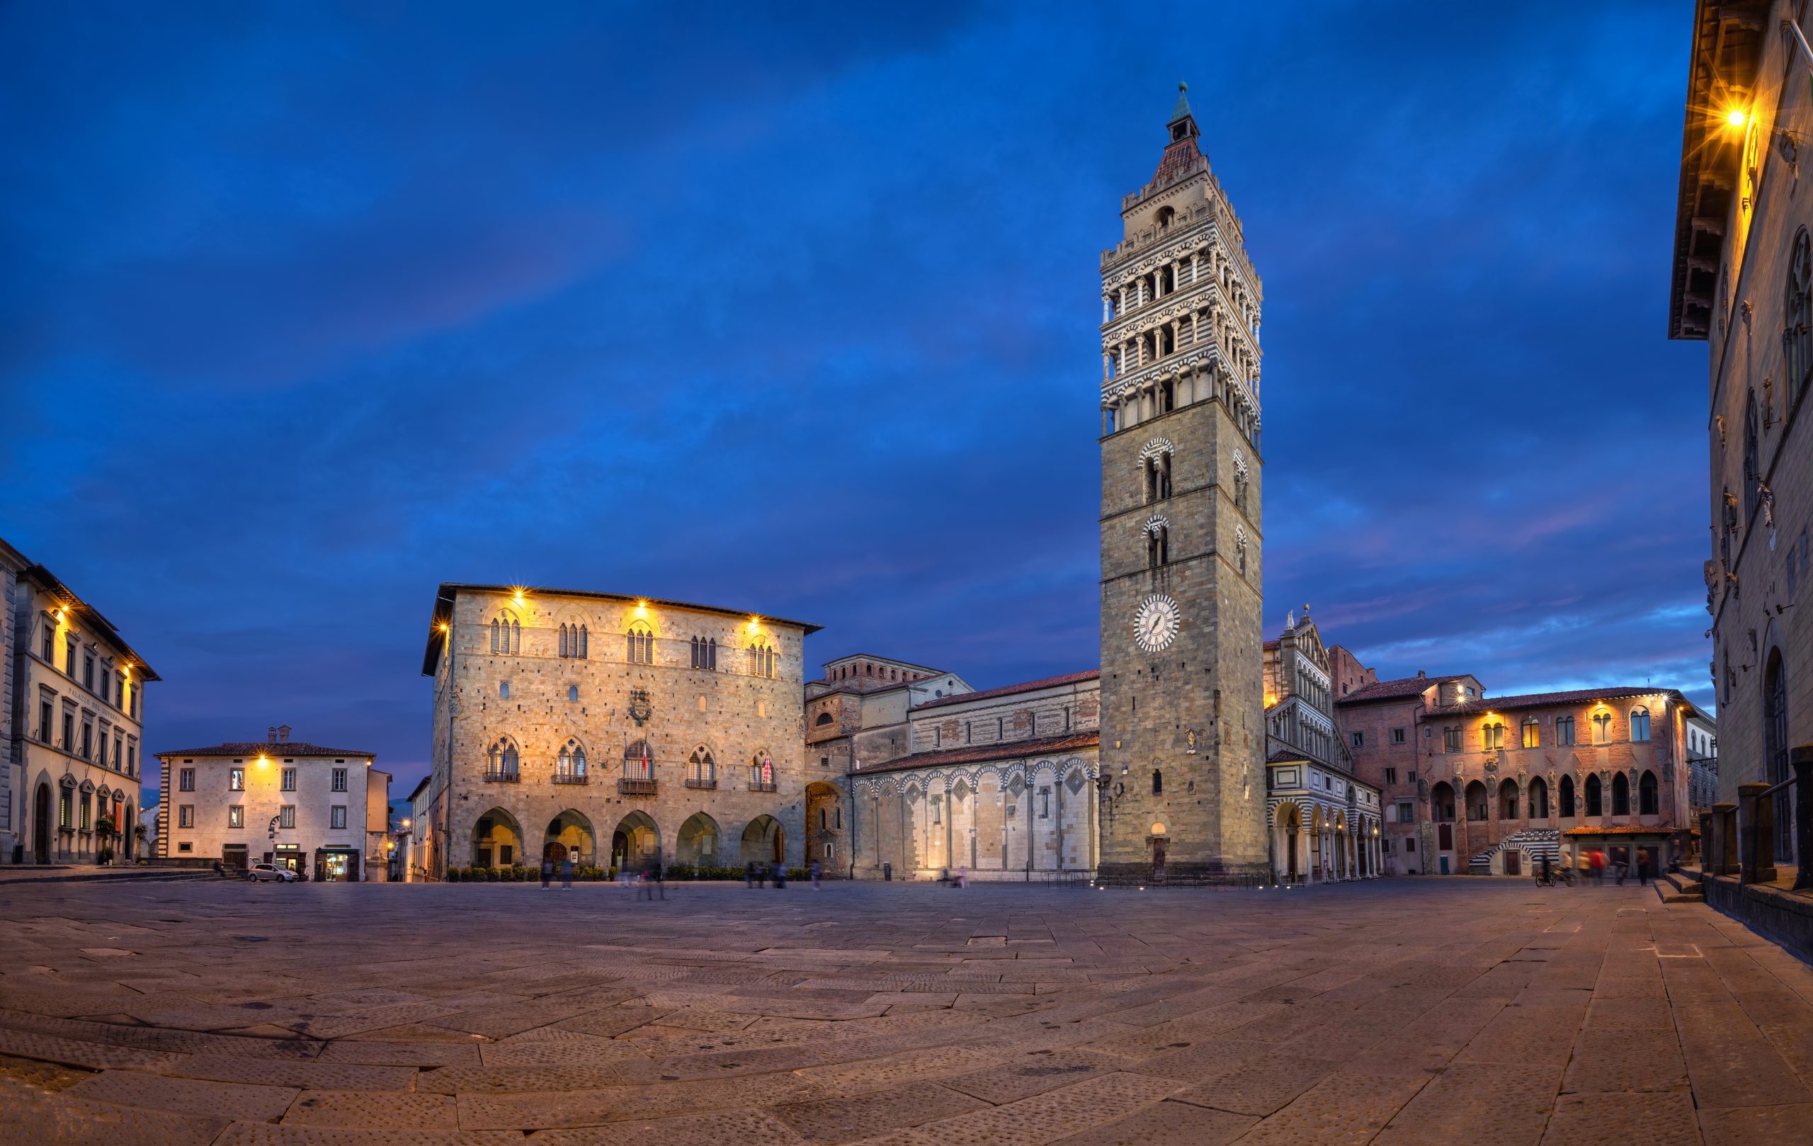
[{"label": "reddish brick building with a row of dark arched windows", "polygon": [[1418,675],[1336,709],[1360,736],[1356,774],[1383,792],[1387,874],[1528,874],[1579,829],[1688,847],[1686,733],[1699,709],[1673,689],[1487,698],[1474,676]]}]

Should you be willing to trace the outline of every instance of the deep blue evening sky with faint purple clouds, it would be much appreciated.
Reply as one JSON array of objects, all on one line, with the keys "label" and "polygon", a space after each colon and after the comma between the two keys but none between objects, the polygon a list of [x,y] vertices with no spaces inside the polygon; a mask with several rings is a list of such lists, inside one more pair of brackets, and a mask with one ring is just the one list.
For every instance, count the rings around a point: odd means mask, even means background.
[{"label": "deep blue evening sky with faint purple clouds", "polygon": [[1097,664],[1099,252],[1178,80],[1265,285],[1267,627],[1711,702],[1692,4],[0,9],[0,535],[150,751],[428,756],[442,580]]}]

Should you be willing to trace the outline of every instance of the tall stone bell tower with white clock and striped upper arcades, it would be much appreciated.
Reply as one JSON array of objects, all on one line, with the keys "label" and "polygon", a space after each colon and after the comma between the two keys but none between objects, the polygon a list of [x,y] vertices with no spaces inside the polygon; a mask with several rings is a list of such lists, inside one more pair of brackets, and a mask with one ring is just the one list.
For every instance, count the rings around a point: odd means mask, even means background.
[{"label": "tall stone bell tower with white clock and striped upper arcades", "polygon": [[1260,281],[1178,83],[1102,252],[1106,883],[1267,878]]}]

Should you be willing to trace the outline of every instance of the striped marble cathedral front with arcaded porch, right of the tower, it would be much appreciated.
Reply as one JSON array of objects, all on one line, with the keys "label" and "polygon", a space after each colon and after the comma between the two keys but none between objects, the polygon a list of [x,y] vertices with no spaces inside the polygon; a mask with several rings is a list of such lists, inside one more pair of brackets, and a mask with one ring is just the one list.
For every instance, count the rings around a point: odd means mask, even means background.
[{"label": "striped marble cathedral front with arcaded porch, right of the tower", "polygon": [[1354,758],[1334,718],[1334,662],[1349,676],[1376,678],[1347,649],[1329,649],[1296,613],[1265,642],[1265,821],[1280,883],[1374,879],[1382,872],[1382,803],[1354,776]]}]

